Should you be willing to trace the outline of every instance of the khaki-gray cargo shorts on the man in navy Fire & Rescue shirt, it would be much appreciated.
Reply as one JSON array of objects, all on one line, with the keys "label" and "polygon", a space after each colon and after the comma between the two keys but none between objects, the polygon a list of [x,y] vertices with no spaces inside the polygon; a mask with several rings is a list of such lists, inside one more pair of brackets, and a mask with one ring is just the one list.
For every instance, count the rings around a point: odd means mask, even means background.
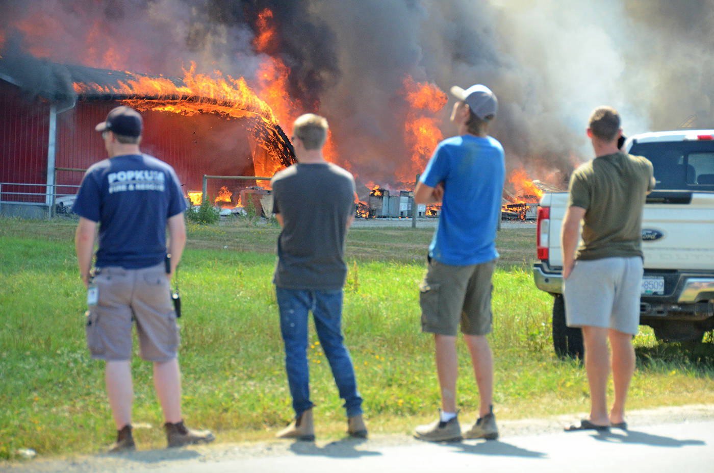
[{"label": "khaki-gray cargo shorts on the man in navy Fire & Rescue shirt", "polygon": [[141,269],[104,267],[91,286],[99,290],[99,299],[89,305],[86,315],[86,339],[92,358],[131,359],[134,321],[143,359],[166,362],[176,358],[178,325],[163,262]]}]

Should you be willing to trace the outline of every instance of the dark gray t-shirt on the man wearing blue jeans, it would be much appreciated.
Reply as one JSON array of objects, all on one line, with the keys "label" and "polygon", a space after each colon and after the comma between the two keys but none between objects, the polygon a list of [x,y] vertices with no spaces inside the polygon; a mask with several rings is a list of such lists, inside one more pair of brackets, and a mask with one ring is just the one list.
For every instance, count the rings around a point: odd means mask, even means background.
[{"label": "dark gray t-shirt on the man wearing blue jeans", "polygon": [[342,289],[345,237],[354,214],[352,174],[335,164],[293,164],[271,180],[283,217],[273,283],[286,289]]}]

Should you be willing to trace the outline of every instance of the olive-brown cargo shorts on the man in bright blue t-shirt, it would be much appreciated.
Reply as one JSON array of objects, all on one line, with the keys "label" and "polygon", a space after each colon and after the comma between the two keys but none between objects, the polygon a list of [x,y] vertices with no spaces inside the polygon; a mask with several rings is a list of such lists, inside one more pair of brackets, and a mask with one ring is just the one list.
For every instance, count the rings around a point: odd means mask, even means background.
[{"label": "olive-brown cargo shorts on the man in bright blue t-shirt", "polygon": [[491,332],[491,277],[496,259],[481,264],[451,266],[431,259],[419,284],[421,330],[456,336],[459,323],[466,335]]}]

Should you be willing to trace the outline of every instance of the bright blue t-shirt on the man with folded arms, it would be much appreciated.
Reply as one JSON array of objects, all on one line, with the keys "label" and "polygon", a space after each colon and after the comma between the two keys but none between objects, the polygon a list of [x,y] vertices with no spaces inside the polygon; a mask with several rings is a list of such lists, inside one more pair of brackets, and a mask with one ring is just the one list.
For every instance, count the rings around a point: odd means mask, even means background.
[{"label": "bright blue t-shirt on the man with folded arms", "polygon": [[496,229],[505,176],[503,146],[491,136],[453,136],[436,146],[419,179],[430,187],[444,184],[429,256],[453,266],[498,258]]}]

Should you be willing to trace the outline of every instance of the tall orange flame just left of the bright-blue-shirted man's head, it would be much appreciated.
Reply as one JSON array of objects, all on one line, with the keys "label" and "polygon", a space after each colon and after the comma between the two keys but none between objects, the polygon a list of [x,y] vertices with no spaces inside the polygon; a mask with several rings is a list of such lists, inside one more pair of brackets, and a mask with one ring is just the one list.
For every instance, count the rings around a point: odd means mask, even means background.
[{"label": "tall orange flame just left of the bright-blue-shirted man's head", "polygon": [[404,140],[412,150],[409,169],[398,170],[397,177],[404,182],[413,181],[418,172],[423,171],[431,153],[443,139],[438,129],[438,117],[434,116],[448,102],[446,94],[428,82],[416,82],[411,76],[403,81],[406,101],[410,106],[405,124]]}]

